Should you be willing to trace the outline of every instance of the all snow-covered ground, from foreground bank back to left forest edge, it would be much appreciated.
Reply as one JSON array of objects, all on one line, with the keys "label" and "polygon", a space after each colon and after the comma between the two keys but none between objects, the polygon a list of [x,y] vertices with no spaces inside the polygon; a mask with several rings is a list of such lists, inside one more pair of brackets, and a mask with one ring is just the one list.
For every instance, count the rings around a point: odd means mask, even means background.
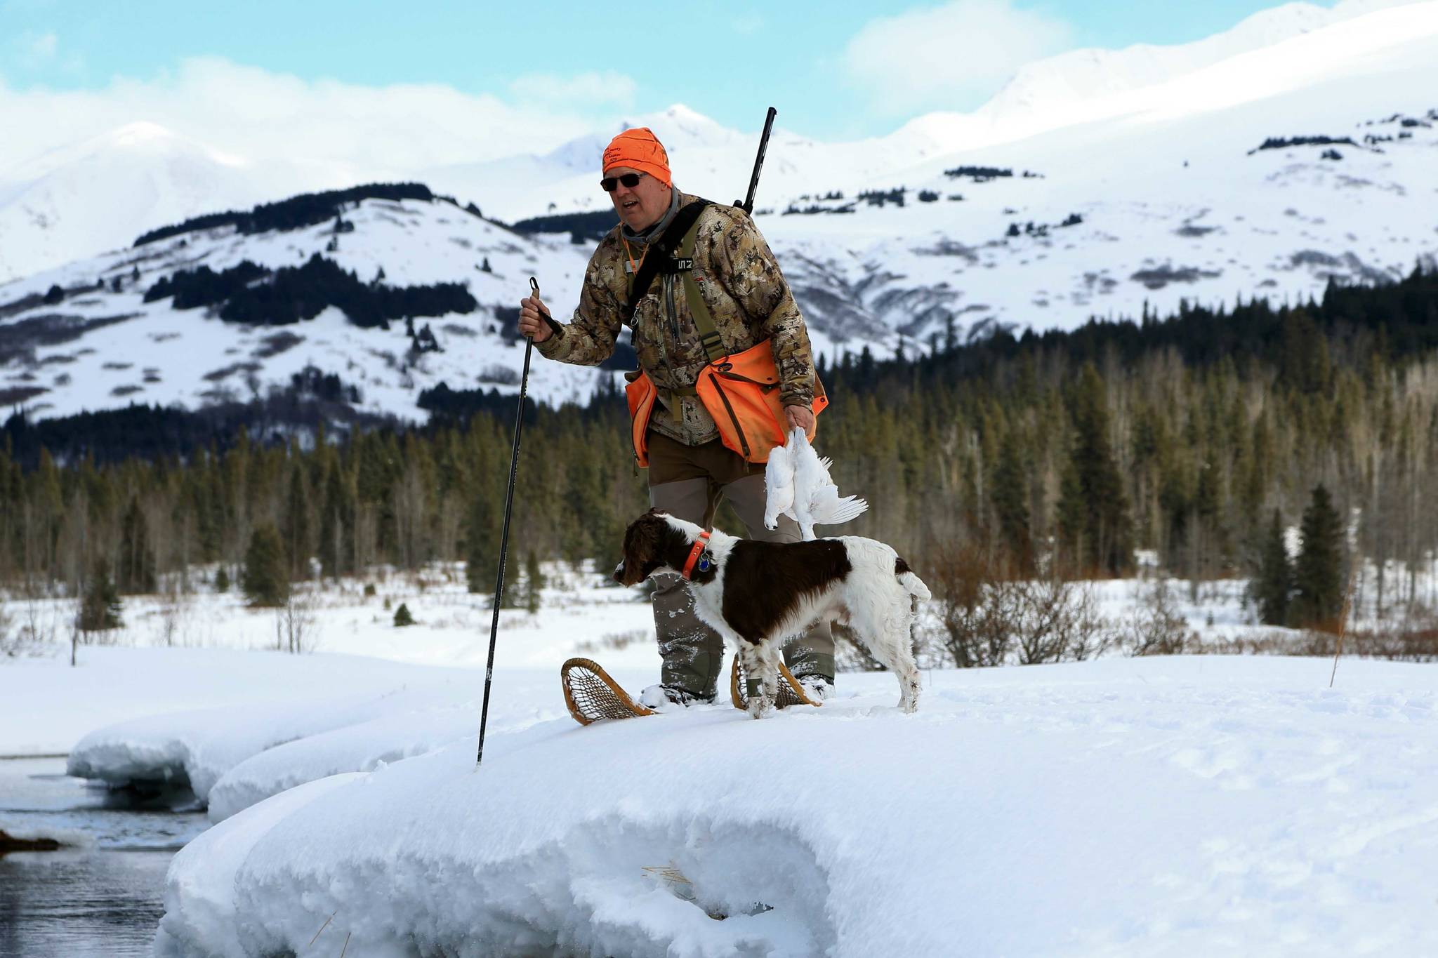
[{"label": "all snow-covered ground, from foreground bank back to left forest edge", "polygon": [[[0,754],[209,801],[160,955],[1438,948],[1431,665],[1345,659],[1332,689],[1332,661],[1277,656],[933,668],[912,717],[892,676],[844,674],[759,722],[581,728],[558,664],[654,681],[650,612],[546,572],[538,615],[502,613],[477,770],[490,613],[443,567],[313,597],[308,655],[267,651],[275,613],[232,595],[131,599],[127,645],[0,666]],[[1242,583],[1172,585],[1205,639],[1252,631]],[[1094,589],[1116,620],[1152,586]]]}]

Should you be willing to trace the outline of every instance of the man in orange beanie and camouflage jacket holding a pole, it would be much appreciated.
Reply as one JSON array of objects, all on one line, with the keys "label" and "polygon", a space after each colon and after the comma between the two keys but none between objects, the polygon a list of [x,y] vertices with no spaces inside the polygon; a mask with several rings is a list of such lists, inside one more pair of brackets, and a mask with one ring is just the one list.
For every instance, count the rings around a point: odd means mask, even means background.
[{"label": "man in orange beanie and camouflage jacket holding a pole", "polygon": [[[695,383],[710,353],[690,309],[687,294],[693,290],[684,286],[677,267],[660,269],[649,280],[626,322],[631,284],[636,277],[644,283],[646,256],[676,218],[687,218],[680,210],[697,198],[673,185],[669,155],[647,128],[627,129],[610,142],[603,177],[600,185],[610,194],[620,224],[590,259],[574,319],[551,327],[541,317],[544,303],[531,296],[519,303],[519,332],[549,359],[594,366],[608,359],[620,329],[628,325],[640,371],[654,385],[647,427],[636,427],[636,454],[649,460],[650,503],[707,529],[719,503],[728,500],[752,539],[798,541],[798,527],[788,517],[779,518],[777,530],[765,529],[764,464],[725,447],[713,415],[696,395]],[[664,243],[672,244],[664,259],[680,263],[670,259],[677,236]],[[719,348],[739,353],[768,339],[787,429],[812,431],[815,376],[804,317],[774,254],[743,210],[702,207],[693,227],[692,261],[683,263],[702,280],[699,294],[722,338]],[[651,263],[647,273],[654,269]],[[661,573],[654,579],[661,682],[646,688],[640,702],[654,708],[713,701],[723,641],[695,615],[693,596],[680,576]],[[834,639],[828,623],[791,639],[784,656],[810,698],[820,699],[833,689]]]}]

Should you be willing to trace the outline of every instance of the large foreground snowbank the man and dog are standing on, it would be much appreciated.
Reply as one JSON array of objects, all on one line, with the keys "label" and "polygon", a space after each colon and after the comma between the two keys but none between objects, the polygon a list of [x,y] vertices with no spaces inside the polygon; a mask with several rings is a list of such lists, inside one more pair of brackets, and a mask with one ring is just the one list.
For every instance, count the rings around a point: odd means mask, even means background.
[{"label": "large foreground snowbank the man and dog are standing on", "polygon": [[196,839],[157,954],[1434,954],[1434,675],[938,672],[910,717],[846,675],[758,722],[512,728],[477,770],[470,733]]}]

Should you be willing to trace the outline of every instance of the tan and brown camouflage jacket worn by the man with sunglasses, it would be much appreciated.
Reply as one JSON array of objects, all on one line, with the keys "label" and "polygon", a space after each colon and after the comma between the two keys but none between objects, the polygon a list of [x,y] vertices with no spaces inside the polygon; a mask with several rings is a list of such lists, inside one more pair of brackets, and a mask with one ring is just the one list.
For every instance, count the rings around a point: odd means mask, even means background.
[{"label": "tan and brown camouflage jacket worn by the man with sunglasses", "polygon": [[[696,200],[680,194],[680,204]],[[584,273],[580,306],[569,325],[542,343],[541,355],[561,362],[597,366],[614,352],[628,300],[630,259],[620,231],[605,236]],[[628,243],[636,260],[643,246]],[[725,350],[743,352],[771,340],[779,371],[784,405],[814,401],[814,358],[804,317],[769,244],[742,210],[713,204],[699,215],[693,276],[723,339]],[[713,282],[709,282],[713,280]],[[687,445],[718,438],[719,429],[692,392],[709,358],[689,315],[683,277],[660,271],[638,302],[633,319],[640,369],[659,388],[650,428]]]}]

